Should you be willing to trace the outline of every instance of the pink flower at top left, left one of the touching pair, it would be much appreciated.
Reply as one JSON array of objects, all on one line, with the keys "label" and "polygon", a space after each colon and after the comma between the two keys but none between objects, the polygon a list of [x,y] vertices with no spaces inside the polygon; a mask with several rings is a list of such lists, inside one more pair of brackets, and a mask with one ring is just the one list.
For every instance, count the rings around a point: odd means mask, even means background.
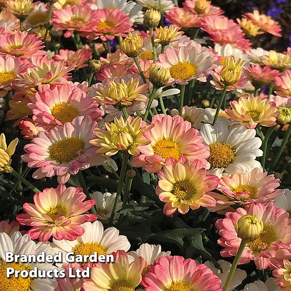
[{"label": "pink flower at top left, left one of the touching pair", "polygon": [[86,4],[67,6],[61,10],[54,10],[51,23],[58,30],[67,30],[65,37],[70,37],[76,30],[78,32],[90,32],[98,23],[96,11]]}]

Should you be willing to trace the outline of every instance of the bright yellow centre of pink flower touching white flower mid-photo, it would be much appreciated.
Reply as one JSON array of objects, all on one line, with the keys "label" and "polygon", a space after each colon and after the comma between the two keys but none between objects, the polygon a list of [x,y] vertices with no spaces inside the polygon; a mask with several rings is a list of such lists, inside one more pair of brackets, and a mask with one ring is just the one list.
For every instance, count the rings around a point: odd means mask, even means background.
[{"label": "bright yellow centre of pink flower touching white flower mid-photo", "polygon": [[172,141],[170,138],[160,139],[152,147],[155,155],[167,160],[174,158],[178,160],[181,154],[181,146],[178,142]]}]

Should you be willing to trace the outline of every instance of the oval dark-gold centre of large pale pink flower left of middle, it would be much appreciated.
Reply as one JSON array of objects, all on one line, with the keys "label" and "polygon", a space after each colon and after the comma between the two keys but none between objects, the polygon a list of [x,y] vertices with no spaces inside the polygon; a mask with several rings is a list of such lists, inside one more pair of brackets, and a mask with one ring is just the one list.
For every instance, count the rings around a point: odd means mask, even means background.
[{"label": "oval dark-gold centre of large pale pink flower left of middle", "polygon": [[49,148],[49,155],[57,163],[66,163],[78,157],[79,151],[84,147],[85,141],[79,137],[67,137],[53,143]]}]

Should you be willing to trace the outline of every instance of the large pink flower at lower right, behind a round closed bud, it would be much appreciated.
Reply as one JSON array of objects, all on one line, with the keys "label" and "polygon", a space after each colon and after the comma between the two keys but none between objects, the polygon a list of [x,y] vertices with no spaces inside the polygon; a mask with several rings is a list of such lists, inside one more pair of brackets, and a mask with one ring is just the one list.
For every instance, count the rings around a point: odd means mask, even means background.
[{"label": "large pink flower at lower right, behind a round closed bud", "polygon": [[238,208],[235,212],[227,212],[224,219],[217,220],[215,225],[221,236],[218,243],[223,247],[220,251],[221,256],[236,255],[241,238],[237,236],[235,224],[246,214],[257,215],[258,221],[263,222],[263,231],[259,238],[246,244],[239,263],[253,260],[258,269],[267,267],[274,269],[282,264],[283,259],[290,259],[289,214],[277,208],[274,202],[247,204],[244,209]]}]

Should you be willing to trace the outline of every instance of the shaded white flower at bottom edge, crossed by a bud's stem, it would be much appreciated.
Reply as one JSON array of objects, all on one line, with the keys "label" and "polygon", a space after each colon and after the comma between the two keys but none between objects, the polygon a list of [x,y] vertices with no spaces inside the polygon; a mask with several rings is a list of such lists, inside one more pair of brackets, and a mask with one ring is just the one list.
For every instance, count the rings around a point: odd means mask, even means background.
[{"label": "shaded white flower at bottom edge, crossed by a bud's stem", "polygon": [[[211,268],[213,273],[215,275],[217,275],[220,279],[221,279],[221,287],[224,286],[224,283],[227,279],[227,276],[228,276],[228,273],[230,273],[231,271],[231,267],[232,267],[232,264],[231,263],[228,263],[224,260],[219,260],[218,263],[220,264],[221,268],[222,268],[222,271],[223,273],[221,273],[220,269],[216,268],[214,266],[214,263],[213,262],[210,262],[210,261],[206,261],[204,264]],[[234,277],[230,283],[230,286],[227,288],[226,291],[232,291],[236,286],[240,285],[241,282],[246,278],[246,273],[245,271],[239,269],[239,268],[236,268],[236,271],[235,271],[235,274],[234,274]]]}]

